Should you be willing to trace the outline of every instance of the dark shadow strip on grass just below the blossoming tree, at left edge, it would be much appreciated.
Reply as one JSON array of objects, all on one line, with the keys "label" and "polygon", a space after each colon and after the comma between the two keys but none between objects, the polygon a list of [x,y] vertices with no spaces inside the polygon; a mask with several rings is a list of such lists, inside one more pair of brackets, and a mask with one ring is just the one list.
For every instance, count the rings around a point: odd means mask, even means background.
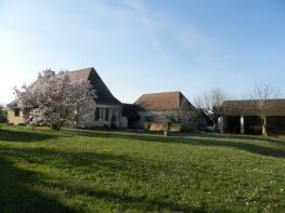
[{"label": "dark shadow strip on grass just below the blossoming tree, at left edge", "polygon": [[54,134],[38,133],[38,132],[27,132],[27,131],[10,131],[0,129],[0,142],[41,142],[44,139],[56,138]]}]

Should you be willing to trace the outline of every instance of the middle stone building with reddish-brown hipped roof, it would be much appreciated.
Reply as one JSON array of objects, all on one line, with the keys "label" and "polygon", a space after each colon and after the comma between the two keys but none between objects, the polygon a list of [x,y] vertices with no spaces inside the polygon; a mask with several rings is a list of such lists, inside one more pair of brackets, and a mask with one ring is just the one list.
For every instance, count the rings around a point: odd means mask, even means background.
[{"label": "middle stone building with reddish-brown hipped roof", "polygon": [[[146,122],[182,123],[184,129],[205,129],[207,119],[181,92],[144,94],[132,106],[130,125],[144,128]],[[182,119],[181,119],[182,118]]]}]

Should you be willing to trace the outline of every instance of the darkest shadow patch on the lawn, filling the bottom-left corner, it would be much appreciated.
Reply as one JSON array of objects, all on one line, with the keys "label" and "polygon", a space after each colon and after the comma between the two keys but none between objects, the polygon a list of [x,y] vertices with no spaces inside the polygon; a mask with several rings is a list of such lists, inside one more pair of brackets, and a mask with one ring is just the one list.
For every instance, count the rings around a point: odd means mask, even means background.
[{"label": "darkest shadow patch on the lawn, filling the bottom-left corner", "polygon": [[0,158],[0,212],[75,212],[54,198],[28,188],[37,181],[33,172],[15,168],[10,161]]}]

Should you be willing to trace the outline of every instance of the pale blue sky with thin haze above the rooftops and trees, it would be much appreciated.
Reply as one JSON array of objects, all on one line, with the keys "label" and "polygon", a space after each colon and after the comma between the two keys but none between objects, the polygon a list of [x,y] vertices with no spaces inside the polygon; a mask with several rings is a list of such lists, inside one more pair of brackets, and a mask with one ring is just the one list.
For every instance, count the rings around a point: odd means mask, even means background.
[{"label": "pale blue sky with thin haze above the rooftops and trees", "polygon": [[0,103],[46,68],[93,66],[113,94],[285,89],[283,0],[0,0]]}]

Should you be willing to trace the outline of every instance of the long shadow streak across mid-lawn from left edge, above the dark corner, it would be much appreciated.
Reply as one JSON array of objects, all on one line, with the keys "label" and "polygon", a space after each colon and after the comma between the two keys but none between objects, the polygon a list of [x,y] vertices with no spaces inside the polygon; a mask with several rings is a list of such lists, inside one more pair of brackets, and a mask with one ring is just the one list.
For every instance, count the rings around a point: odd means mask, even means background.
[{"label": "long shadow streak across mid-lawn from left edge, above the dark corner", "polygon": [[89,151],[63,151],[51,150],[46,148],[9,148],[0,149],[0,156],[16,158],[24,163],[51,164],[59,169],[69,168],[108,168],[113,171],[125,171],[128,163],[133,168],[143,167],[143,164],[134,164],[134,159],[126,156],[112,154],[98,154]]}]

